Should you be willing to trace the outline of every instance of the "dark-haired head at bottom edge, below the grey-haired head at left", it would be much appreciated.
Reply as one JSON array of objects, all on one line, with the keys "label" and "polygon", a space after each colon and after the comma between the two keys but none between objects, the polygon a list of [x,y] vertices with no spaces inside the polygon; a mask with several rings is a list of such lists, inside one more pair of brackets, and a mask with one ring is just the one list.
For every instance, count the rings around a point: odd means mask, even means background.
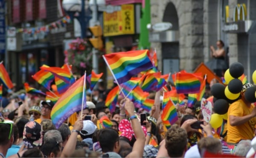
[{"label": "dark-haired head at bottom edge, below the grey-haired head at left", "polygon": [[60,144],[57,141],[50,140],[43,144],[40,150],[47,157],[51,154],[51,152],[56,156],[58,152],[60,152]]}]

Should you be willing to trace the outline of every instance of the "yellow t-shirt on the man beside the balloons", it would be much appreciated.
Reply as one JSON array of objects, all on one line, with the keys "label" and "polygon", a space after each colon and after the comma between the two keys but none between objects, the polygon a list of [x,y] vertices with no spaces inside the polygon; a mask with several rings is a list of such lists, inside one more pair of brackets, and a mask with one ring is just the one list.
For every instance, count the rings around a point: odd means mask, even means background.
[{"label": "yellow t-shirt on the man beside the balloons", "polygon": [[[246,116],[249,115],[255,106],[251,104],[250,108],[246,106],[241,99],[232,103],[228,109],[227,115]],[[227,118],[227,142],[238,143],[240,140],[252,139],[254,135],[254,126],[256,118],[252,118],[239,126],[231,126],[229,117]]]}]

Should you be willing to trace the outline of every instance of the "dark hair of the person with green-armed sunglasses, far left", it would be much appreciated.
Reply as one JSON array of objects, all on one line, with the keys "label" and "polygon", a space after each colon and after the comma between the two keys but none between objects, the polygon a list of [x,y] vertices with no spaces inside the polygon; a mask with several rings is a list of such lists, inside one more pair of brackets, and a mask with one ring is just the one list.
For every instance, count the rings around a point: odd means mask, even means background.
[{"label": "dark hair of the person with green-armed sunglasses, far left", "polygon": [[[0,145],[6,145],[8,143],[10,130],[10,124],[0,123]],[[13,129],[11,131],[11,135],[13,135]]]}]

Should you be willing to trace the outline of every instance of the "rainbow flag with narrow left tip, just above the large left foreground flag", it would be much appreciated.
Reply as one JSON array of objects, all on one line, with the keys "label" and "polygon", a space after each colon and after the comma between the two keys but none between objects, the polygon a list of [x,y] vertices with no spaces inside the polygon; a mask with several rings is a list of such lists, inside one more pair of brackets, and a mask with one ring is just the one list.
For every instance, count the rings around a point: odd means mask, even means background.
[{"label": "rainbow flag with narrow left tip, just above the large left foreground flag", "polygon": [[63,68],[60,68],[60,67],[49,67],[47,65],[43,65],[40,67],[40,69],[51,72],[55,77],[60,78],[66,83],[70,84],[71,80],[73,81],[71,77],[72,75],[70,74],[70,70],[67,69],[67,67],[65,66]]}]

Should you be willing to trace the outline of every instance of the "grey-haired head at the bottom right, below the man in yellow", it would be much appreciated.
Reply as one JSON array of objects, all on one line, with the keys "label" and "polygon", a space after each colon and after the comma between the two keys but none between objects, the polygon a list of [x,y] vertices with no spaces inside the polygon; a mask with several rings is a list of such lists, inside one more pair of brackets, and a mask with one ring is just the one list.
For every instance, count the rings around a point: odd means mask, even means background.
[{"label": "grey-haired head at the bottom right, below the man in yellow", "polygon": [[234,154],[245,158],[251,147],[252,145],[250,140],[241,140],[239,141],[239,144],[237,144]]}]

